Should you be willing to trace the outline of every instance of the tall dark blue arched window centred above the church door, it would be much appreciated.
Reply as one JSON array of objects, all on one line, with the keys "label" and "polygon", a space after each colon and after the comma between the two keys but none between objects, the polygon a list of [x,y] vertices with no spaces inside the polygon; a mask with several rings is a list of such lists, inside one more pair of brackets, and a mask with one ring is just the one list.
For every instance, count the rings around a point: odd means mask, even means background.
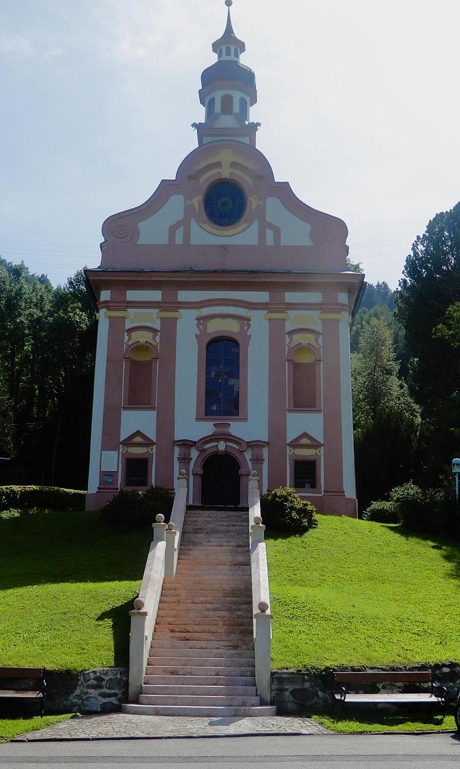
[{"label": "tall dark blue arched window centred above the church door", "polygon": [[205,416],[239,415],[239,345],[215,339],[206,347]]}]

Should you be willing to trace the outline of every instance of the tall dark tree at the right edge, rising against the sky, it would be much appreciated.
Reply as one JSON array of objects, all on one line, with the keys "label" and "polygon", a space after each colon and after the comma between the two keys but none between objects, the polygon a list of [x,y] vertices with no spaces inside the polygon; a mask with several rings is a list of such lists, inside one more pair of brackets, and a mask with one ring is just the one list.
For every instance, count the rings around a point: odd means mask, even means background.
[{"label": "tall dark tree at the right edge, rising against the sky", "polygon": [[435,484],[460,448],[455,329],[460,297],[460,202],[437,214],[405,261],[397,317],[412,353],[409,388],[422,407],[420,482]]}]

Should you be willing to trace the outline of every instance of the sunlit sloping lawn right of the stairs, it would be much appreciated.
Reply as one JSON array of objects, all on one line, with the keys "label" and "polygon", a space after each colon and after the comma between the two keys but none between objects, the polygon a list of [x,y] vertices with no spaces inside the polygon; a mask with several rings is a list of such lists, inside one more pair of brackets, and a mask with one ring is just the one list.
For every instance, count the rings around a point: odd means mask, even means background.
[{"label": "sunlit sloping lawn right of the stairs", "polygon": [[399,526],[318,516],[266,537],[272,668],[460,660],[460,546]]}]

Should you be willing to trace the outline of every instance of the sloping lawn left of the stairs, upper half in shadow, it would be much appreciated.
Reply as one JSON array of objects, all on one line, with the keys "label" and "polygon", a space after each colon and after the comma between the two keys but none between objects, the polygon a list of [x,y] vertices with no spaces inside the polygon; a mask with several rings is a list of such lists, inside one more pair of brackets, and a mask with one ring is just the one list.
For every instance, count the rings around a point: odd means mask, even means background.
[{"label": "sloping lawn left of the stairs, upper half in shadow", "polygon": [[108,528],[96,511],[35,511],[0,518],[0,538],[0,665],[127,663],[152,530]]}]

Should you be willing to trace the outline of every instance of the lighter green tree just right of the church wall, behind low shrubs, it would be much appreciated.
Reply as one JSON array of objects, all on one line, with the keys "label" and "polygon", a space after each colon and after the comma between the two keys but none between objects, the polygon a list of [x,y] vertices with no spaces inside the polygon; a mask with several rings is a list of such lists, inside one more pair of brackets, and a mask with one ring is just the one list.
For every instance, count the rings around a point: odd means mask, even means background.
[{"label": "lighter green tree just right of the church wall, behind low shrubs", "polygon": [[352,353],[352,397],[358,504],[362,510],[412,473],[420,419],[398,377],[392,331],[383,318],[362,328]]}]

